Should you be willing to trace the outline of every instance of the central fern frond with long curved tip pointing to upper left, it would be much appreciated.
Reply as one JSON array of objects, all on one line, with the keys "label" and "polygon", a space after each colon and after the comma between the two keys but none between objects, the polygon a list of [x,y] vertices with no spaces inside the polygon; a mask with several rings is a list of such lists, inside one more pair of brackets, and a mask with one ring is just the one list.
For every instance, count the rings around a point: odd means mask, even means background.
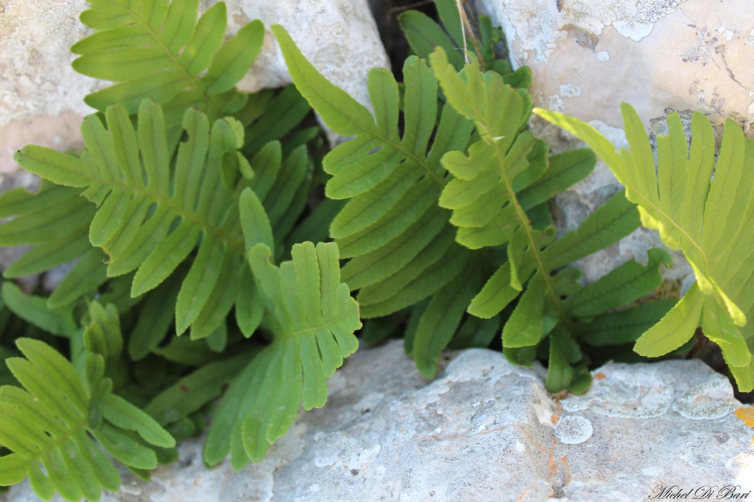
[{"label": "central fern frond with long curved tip pointing to upper left", "polygon": [[360,290],[361,315],[387,315],[437,293],[470,258],[452,242],[449,214],[437,197],[446,183],[440,157],[465,148],[472,124],[450,106],[437,124],[437,79],[422,59],[409,57],[403,67],[403,107],[391,73],[370,72],[372,117],[306,61],[284,29],[272,29],[302,95],[335,132],[356,136],[327,154],[323,169],[332,175],[326,195],[350,199],[330,236],[351,258],[343,278]]}]

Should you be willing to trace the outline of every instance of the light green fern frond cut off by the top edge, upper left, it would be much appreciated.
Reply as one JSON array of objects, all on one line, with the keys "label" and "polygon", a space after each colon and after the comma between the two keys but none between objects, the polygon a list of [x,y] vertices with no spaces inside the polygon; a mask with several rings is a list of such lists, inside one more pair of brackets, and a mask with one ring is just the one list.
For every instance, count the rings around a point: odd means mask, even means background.
[{"label": "light green fern frond cut off by the top edge, upper left", "polygon": [[197,21],[198,3],[90,0],[81,22],[97,32],[71,47],[80,55],[73,68],[118,84],[87,96],[87,105],[105,111],[119,103],[134,114],[143,99],[154,99],[164,107],[167,129],[179,126],[188,108],[210,120],[243,108],[247,98],[234,85],[256,59],[264,26],[248,23],[223,44],[225,3]]}]

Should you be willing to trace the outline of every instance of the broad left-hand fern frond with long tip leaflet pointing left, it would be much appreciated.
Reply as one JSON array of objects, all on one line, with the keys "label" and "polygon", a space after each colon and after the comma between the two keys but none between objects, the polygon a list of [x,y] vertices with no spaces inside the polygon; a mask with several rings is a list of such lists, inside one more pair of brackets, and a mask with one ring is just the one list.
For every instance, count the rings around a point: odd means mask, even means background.
[{"label": "broad left-hand fern frond with long tip leaflet pointing left", "polygon": [[[189,109],[183,122],[188,138],[170,169],[173,151],[159,105],[142,103],[136,130],[120,105],[108,108],[106,120],[109,130],[96,116],[84,121],[87,151],[80,158],[36,146],[15,158],[51,181],[86,188],[84,195],[100,206],[90,223],[90,242],[108,255],[109,277],[136,270],[132,297],[164,281],[198,245],[177,296],[176,331],[192,327],[192,338],[209,336],[238,300],[236,271],[244,268],[238,193],[248,182],[243,178],[229,190],[221,175],[235,170],[253,176],[237,151],[243,145],[241,125],[228,118],[210,126],[207,115]],[[301,157],[287,162],[299,166]]]}]

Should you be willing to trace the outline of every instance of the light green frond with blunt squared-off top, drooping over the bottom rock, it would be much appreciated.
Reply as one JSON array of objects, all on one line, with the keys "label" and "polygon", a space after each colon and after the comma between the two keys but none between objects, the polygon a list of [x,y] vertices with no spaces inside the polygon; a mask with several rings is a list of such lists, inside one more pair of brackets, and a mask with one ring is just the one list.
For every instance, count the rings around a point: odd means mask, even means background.
[{"label": "light green frond with blunt squared-off top, drooping over the bottom rock", "polygon": [[214,465],[228,452],[235,470],[259,462],[299,412],[327,400],[326,379],[358,348],[359,306],[341,282],[338,247],[294,245],[293,260],[270,263],[264,242],[249,263],[273,336],[223,397],[213,418],[204,460]]}]

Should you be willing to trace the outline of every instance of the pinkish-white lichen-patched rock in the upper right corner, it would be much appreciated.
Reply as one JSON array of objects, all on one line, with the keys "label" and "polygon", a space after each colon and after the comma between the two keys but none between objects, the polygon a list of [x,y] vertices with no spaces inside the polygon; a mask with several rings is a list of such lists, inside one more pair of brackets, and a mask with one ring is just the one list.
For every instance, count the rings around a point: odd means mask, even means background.
[{"label": "pinkish-white lichen-patched rock in the upper right corner", "polygon": [[[701,111],[716,123],[737,120],[754,137],[749,0],[476,0],[475,5],[502,26],[513,65],[532,68],[536,105],[590,122],[618,146],[625,141],[621,102],[633,105],[654,134],[663,132],[670,111],[685,117]],[[535,122],[534,129],[555,151],[578,146],[553,126]],[[562,230],[619,189],[598,163],[590,178],[557,197]],[[658,242],[656,234],[640,230],[582,263],[587,280],[632,257],[642,260]],[[691,285],[691,271],[680,254],[674,263],[678,266],[665,275],[667,287],[677,293]]]}]

